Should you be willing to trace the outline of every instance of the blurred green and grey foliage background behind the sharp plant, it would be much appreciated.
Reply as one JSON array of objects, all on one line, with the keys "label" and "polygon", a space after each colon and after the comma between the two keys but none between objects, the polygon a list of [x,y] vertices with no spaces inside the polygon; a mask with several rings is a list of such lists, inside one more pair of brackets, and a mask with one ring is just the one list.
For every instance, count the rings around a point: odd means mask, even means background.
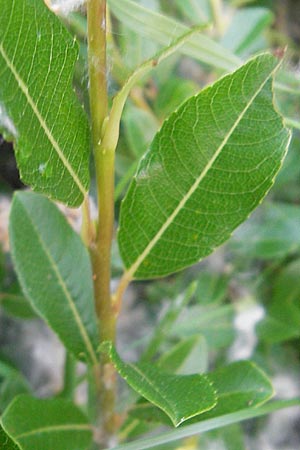
[{"label": "blurred green and grey foliage background behind the sharp plant", "polygon": [[[74,84],[88,112],[84,7],[64,15],[63,3],[53,0],[52,6],[77,36],[80,57]],[[207,38],[204,43],[195,38],[132,90],[117,150],[116,217],[140,157],[171,111],[240,61],[264,50],[276,52],[287,47],[283,68],[275,82],[275,101],[286,124],[293,127],[293,138],[273,189],[249,220],[211,257],[166,279],[136,283],[125,299],[119,340],[123,354],[132,359],[147,353],[154,358],[172,352],[178,356],[185,351],[189,357],[184,359],[182,370],[189,372],[207,371],[236,359],[250,358],[272,378],[280,398],[299,394],[300,1],[111,0],[108,3],[111,98],[136,66],[170,43],[184,27],[201,25],[201,35]],[[5,337],[14,321],[37,320],[20,291],[8,252],[9,199],[13,189],[22,187],[12,145],[2,139],[0,410],[16,392],[32,389],[33,369],[22,362],[26,354],[11,352],[16,341],[9,342]],[[92,187],[92,195],[93,191]],[[113,277],[117,279],[121,271],[115,245]],[[122,402],[123,406],[130,402],[128,393],[122,396],[121,409]],[[280,418],[280,427],[277,422],[270,425],[261,419],[209,433],[199,440],[190,439],[180,448],[295,450],[300,445],[299,428],[296,430],[299,421],[299,411],[288,423]],[[140,422],[136,429],[148,430],[149,426]],[[125,435],[129,434],[124,429]],[[175,444],[161,448],[179,449]]]}]

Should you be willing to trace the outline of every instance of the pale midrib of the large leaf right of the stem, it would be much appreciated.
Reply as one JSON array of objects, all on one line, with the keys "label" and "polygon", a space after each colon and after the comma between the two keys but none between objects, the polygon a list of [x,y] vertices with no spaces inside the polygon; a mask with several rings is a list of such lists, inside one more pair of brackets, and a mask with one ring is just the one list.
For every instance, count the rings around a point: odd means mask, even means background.
[{"label": "pale midrib of the large leaf right of the stem", "polygon": [[269,75],[266,77],[266,79],[263,81],[263,83],[261,83],[261,85],[259,86],[259,88],[257,89],[257,91],[255,92],[255,94],[250,98],[249,102],[247,103],[247,105],[245,106],[245,108],[243,109],[243,111],[241,112],[241,114],[239,115],[239,117],[237,118],[237,120],[234,122],[233,126],[230,128],[229,132],[227,133],[227,135],[225,136],[225,138],[223,139],[222,143],[220,144],[220,146],[217,148],[215,154],[213,155],[213,157],[208,161],[208,163],[206,164],[206,166],[204,167],[204,170],[201,172],[201,174],[199,175],[199,177],[195,180],[195,182],[193,183],[193,185],[190,187],[190,189],[188,190],[188,192],[183,196],[183,198],[180,200],[180,202],[178,203],[177,207],[174,209],[174,211],[172,212],[172,214],[170,214],[170,216],[167,218],[167,220],[164,222],[164,224],[161,226],[161,228],[159,229],[159,231],[156,233],[156,235],[151,239],[151,241],[148,243],[148,245],[146,246],[146,248],[144,249],[144,251],[140,254],[140,256],[136,259],[136,261],[126,270],[125,272],[125,276],[128,279],[132,279],[134,278],[134,274],[136,273],[136,271],[138,270],[138,268],[140,267],[140,265],[142,264],[142,262],[147,258],[147,256],[149,255],[149,253],[151,252],[151,250],[153,249],[153,247],[157,244],[157,242],[159,241],[159,239],[162,237],[162,235],[164,234],[164,232],[167,230],[167,228],[172,224],[172,222],[174,221],[174,219],[176,218],[177,214],[179,214],[179,212],[182,210],[182,208],[185,206],[186,202],[190,199],[190,197],[193,195],[193,193],[195,192],[195,190],[199,187],[201,181],[203,180],[203,178],[207,175],[208,171],[212,168],[214,162],[216,161],[216,159],[218,158],[218,156],[220,155],[220,153],[222,152],[223,148],[225,147],[225,145],[227,144],[227,142],[229,141],[231,135],[233,134],[233,132],[235,131],[235,129],[237,128],[237,126],[239,125],[239,123],[241,122],[241,120],[243,119],[244,115],[246,114],[246,112],[248,111],[248,109],[250,108],[250,106],[252,105],[252,103],[254,102],[254,100],[256,99],[257,95],[262,91],[262,89],[264,88],[265,84],[267,83],[267,81],[273,76],[273,74],[278,70],[279,66],[281,65],[281,61],[275,66],[275,68],[269,73]]}]

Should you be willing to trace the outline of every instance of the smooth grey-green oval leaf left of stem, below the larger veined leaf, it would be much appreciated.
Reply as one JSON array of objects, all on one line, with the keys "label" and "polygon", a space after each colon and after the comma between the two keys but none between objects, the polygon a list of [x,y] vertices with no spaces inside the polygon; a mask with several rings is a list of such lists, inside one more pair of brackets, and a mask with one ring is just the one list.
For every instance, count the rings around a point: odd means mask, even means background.
[{"label": "smooth grey-green oval leaf left of stem, below the larger veined leaf", "polygon": [[92,271],[79,236],[50,200],[30,192],[14,196],[9,234],[25,296],[71,353],[97,364]]}]

